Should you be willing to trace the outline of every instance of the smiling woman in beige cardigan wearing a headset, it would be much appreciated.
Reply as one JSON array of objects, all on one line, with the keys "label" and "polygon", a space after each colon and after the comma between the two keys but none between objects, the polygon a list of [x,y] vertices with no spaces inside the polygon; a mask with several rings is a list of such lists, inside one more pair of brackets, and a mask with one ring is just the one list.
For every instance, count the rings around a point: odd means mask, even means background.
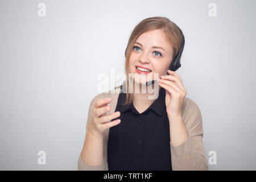
[{"label": "smiling woman in beige cardigan wearing a headset", "polygon": [[[182,31],[168,18],[147,18],[134,28],[126,83],[90,103],[79,170],[208,170],[200,109],[169,69],[182,43]],[[158,98],[149,99],[148,89],[134,92],[157,74],[151,86]]]}]

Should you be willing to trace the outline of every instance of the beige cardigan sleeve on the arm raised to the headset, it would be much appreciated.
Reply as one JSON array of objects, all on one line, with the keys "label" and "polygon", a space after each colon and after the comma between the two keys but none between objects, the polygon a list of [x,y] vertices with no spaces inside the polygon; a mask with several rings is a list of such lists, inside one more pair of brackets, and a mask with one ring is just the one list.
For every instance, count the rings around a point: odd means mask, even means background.
[{"label": "beige cardigan sleeve on the arm raised to the headset", "polygon": [[185,97],[181,109],[183,122],[188,131],[188,139],[179,146],[171,146],[172,170],[208,171],[208,163],[203,146],[203,122],[199,106]]}]

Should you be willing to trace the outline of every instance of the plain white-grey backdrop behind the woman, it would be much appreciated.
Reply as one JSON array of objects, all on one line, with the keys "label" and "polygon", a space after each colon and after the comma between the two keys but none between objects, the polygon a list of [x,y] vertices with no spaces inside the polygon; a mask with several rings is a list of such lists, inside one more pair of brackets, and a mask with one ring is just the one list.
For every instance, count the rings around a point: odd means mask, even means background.
[{"label": "plain white-grey backdrop behind the woman", "polygon": [[[46,17],[38,4],[46,4]],[[217,16],[210,17],[210,3]],[[256,169],[256,1],[0,1],[0,169],[77,170],[100,73],[125,73],[145,18],[181,28],[187,97],[203,116],[210,170]],[[112,88],[110,88],[112,89]],[[46,151],[46,165],[38,151]]]}]

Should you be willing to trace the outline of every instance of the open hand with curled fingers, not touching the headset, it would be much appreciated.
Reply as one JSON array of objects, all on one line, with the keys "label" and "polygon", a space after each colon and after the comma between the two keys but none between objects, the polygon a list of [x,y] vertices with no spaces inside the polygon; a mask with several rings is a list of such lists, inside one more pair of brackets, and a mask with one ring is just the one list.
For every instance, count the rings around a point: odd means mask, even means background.
[{"label": "open hand with curled fingers, not touching the headset", "polygon": [[121,122],[121,119],[111,121],[112,119],[120,116],[121,113],[119,111],[106,115],[106,113],[110,111],[110,107],[107,105],[111,101],[112,99],[107,97],[101,98],[95,102],[92,112],[92,121],[90,121],[88,126],[89,130],[94,133],[102,134],[106,129],[118,125]]}]

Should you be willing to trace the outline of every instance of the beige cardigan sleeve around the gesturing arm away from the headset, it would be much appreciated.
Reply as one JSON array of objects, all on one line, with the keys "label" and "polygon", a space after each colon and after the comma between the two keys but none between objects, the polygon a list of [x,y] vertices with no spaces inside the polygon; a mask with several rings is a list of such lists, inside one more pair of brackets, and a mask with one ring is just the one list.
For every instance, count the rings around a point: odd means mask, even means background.
[{"label": "beige cardigan sleeve around the gesturing arm away from the headset", "polygon": [[[98,94],[90,102],[88,117],[87,117],[87,122],[86,122],[86,132],[88,130],[89,122],[92,119],[93,106],[94,106],[95,102],[100,98],[105,98],[105,95],[103,93]],[[86,136],[86,134],[85,134],[85,136]],[[78,163],[77,163],[78,171],[107,171],[108,170],[108,163],[107,163],[106,155],[107,155],[106,154],[106,137],[105,137],[105,133],[104,133],[104,162],[102,162],[100,165],[95,166],[95,167],[94,166],[89,166],[87,163],[84,162],[84,160],[82,160],[82,157],[81,157],[81,154],[80,154],[79,159],[78,159]]]}]

